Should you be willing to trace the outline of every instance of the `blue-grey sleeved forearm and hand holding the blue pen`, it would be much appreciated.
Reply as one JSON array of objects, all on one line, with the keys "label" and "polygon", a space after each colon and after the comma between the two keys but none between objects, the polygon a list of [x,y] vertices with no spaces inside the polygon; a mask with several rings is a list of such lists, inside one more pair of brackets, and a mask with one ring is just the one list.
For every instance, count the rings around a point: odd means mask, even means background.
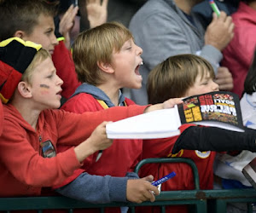
[{"label": "blue-grey sleeved forearm and hand holding the blue pen", "polygon": [[142,203],[148,199],[154,201],[154,195],[149,190],[159,194],[158,189],[149,181],[153,181],[152,176],[128,180],[128,177],[91,176],[83,173],[68,185],[56,189],[56,192],[94,204],[127,202],[127,200]]}]

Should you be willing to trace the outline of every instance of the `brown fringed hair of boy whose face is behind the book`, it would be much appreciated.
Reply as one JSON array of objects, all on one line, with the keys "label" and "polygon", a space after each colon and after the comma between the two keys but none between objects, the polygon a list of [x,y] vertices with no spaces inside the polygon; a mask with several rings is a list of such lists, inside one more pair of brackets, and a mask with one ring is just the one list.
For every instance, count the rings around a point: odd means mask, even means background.
[{"label": "brown fringed hair of boy whose face is behind the book", "polygon": [[170,98],[183,97],[201,74],[203,78],[210,72],[214,78],[212,65],[198,55],[175,55],[167,58],[148,75],[148,102],[161,103]]}]

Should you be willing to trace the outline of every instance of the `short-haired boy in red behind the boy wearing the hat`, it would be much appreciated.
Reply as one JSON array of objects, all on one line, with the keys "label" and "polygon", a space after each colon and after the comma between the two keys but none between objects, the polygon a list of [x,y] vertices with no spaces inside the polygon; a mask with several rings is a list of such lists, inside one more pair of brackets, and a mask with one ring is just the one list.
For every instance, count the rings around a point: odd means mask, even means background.
[{"label": "short-haired boy in red behind the boy wearing the hat", "polygon": [[[70,51],[64,40],[55,37],[56,3],[46,0],[2,0],[0,2],[0,41],[20,37],[40,43],[53,56],[57,74],[64,81],[61,95],[65,99],[79,86]],[[76,9],[73,9],[76,12]],[[71,16],[71,15],[69,15]]]}]

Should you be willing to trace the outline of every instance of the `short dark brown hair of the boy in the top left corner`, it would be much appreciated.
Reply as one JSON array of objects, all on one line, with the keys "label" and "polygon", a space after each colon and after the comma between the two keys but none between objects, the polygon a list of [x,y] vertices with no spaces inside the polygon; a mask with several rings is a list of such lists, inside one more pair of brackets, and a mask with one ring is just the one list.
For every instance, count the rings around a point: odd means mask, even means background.
[{"label": "short dark brown hair of the boy in the top left corner", "polygon": [[54,18],[58,11],[58,3],[46,0],[1,0],[0,41],[13,37],[17,31],[24,31],[29,35],[38,24],[40,14]]}]

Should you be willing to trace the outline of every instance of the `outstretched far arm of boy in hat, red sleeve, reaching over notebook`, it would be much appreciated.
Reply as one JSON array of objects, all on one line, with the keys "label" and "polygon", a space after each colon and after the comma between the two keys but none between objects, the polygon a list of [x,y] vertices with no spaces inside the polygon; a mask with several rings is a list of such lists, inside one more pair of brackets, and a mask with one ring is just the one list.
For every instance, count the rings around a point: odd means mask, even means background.
[{"label": "outstretched far arm of boy in hat, red sleeve, reaching over notebook", "polygon": [[[78,145],[81,141],[88,138],[91,132],[102,121],[117,121],[129,118],[144,112],[152,112],[163,108],[173,107],[175,104],[182,103],[180,98],[170,99],[162,104],[152,106],[131,105],[129,107],[111,107],[97,112],[84,112],[77,114],[65,112],[63,110],[50,111],[54,113],[57,120],[58,143],[59,145]],[[69,122],[63,122],[69,121]],[[73,134],[75,132],[75,134]]]}]

